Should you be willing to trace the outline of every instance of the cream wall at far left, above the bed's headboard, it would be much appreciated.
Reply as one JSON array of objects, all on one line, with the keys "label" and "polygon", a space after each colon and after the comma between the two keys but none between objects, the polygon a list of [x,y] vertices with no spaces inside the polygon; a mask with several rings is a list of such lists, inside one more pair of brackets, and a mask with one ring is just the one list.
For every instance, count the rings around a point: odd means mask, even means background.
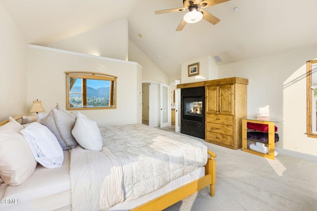
[{"label": "cream wall at far left, above the bed's headboard", "polygon": [[27,43],[0,2],[0,121],[26,112]]}]

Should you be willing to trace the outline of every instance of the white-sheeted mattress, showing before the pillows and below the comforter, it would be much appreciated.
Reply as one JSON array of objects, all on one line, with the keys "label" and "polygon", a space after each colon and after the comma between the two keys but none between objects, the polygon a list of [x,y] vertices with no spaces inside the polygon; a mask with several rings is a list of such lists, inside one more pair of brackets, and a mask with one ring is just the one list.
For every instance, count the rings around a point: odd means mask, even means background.
[{"label": "white-sheeted mattress, showing before the pillows and below the comforter", "polygon": [[[64,151],[64,162],[61,167],[45,168],[38,164],[35,172],[23,184],[0,188],[0,199],[15,199],[21,202],[14,205],[0,203],[0,211],[70,211],[69,164],[69,152]],[[200,167],[159,190],[138,199],[117,204],[110,210],[130,210],[204,175],[205,167]]]}]

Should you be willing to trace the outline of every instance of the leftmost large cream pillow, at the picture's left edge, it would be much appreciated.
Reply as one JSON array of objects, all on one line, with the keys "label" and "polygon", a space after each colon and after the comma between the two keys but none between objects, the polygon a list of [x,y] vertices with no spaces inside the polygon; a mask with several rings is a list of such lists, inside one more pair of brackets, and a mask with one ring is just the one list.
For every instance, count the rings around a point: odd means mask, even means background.
[{"label": "leftmost large cream pillow, at the picture's left edge", "polygon": [[11,116],[0,127],[0,177],[15,186],[25,182],[34,172],[37,161],[20,131],[23,126]]}]

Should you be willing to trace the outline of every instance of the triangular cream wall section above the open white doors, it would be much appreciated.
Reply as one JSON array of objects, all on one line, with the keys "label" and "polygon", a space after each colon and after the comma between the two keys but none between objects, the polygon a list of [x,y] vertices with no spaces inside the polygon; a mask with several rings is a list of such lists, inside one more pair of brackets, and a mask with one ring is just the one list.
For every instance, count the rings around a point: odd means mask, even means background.
[{"label": "triangular cream wall section above the open white doors", "polygon": [[168,84],[167,75],[154,64],[134,43],[129,40],[129,61],[138,62],[142,66],[143,81],[157,81]]}]

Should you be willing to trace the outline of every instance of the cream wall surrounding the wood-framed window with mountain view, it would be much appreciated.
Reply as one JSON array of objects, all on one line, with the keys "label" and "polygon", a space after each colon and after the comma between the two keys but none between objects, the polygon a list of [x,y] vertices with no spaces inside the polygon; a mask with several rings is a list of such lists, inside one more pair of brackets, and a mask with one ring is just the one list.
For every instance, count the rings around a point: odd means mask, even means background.
[{"label": "cream wall surrounding the wood-framed window with mountain view", "polygon": [[65,107],[66,71],[101,72],[118,76],[117,108],[80,112],[99,127],[142,121],[142,67],[135,62],[30,45],[27,70],[28,109],[37,99],[42,101],[44,113],[56,103]]}]

